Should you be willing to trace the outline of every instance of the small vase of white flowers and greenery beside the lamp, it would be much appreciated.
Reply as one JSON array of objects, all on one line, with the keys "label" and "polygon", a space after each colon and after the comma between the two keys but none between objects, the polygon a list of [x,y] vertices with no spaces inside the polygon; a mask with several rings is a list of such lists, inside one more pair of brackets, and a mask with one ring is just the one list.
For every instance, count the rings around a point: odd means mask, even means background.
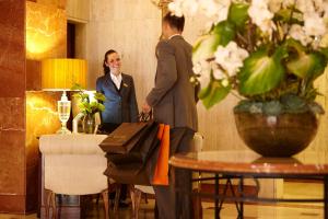
[{"label": "small vase of white flowers and greenery beside the lamp", "polygon": [[105,110],[103,102],[106,100],[105,95],[99,92],[92,92],[93,96],[90,95],[90,92],[85,92],[80,84],[74,84],[71,90],[77,90],[73,96],[79,100],[79,110],[83,113],[82,127],[85,134],[94,134],[96,124],[95,124],[95,114]]}]

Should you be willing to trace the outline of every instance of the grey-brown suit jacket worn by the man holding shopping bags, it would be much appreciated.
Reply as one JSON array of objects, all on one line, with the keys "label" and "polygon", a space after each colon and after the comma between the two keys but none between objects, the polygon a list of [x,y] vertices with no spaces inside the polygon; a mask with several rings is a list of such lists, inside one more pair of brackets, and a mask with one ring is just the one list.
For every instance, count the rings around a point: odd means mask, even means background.
[{"label": "grey-brown suit jacket worn by the man holding shopping bags", "polygon": [[192,47],[180,35],[161,41],[156,46],[155,87],[147,96],[154,119],[175,127],[198,128],[195,93],[190,82]]}]

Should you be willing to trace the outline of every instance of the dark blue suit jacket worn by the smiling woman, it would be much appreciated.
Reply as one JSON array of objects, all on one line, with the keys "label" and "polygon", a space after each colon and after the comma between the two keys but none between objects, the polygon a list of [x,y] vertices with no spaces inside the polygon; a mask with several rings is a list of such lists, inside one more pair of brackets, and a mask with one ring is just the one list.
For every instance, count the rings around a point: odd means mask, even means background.
[{"label": "dark blue suit jacket worn by the smiling woman", "polygon": [[134,83],[131,76],[121,74],[120,90],[118,90],[110,73],[99,77],[96,90],[106,96],[105,111],[102,112],[102,123],[121,124],[138,120],[138,104]]}]

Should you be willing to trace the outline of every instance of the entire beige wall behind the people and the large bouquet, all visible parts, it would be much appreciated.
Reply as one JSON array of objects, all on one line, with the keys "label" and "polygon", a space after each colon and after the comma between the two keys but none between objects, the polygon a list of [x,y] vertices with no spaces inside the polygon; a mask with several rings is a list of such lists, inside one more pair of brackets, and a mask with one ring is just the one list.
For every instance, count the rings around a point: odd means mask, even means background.
[{"label": "entire beige wall behind the people and the large bouquet, all visible parts", "polygon": [[[83,30],[86,44],[82,43],[80,48],[83,51],[81,56],[89,60],[89,88],[94,89],[96,78],[103,74],[105,51],[114,48],[122,56],[124,72],[134,78],[140,107],[154,81],[161,11],[150,0],[92,0],[90,4],[90,21]],[[201,16],[187,18],[185,38],[192,44],[201,35],[206,23]],[[328,93],[326,81],[325,76],[320,81],[323,93]],[[328,106],[325,97],[320,101]],[[236,97],[230,96],[209,111],[198,104],[199,129],[206,137],[204,150],[246,149],[237,135],[232,114],[236,102]],[[321,118],[319,135],[308,150],[325,150],[326,124],[327,116]]]}]

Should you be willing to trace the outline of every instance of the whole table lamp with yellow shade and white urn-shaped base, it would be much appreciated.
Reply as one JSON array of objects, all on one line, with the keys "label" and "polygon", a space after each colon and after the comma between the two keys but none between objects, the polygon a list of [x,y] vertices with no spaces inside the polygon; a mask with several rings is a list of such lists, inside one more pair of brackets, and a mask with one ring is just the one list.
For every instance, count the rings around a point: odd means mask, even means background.
[{"label": "whole table lamp with yellow shade and white urn-shaped base", "polygon": [[42,61],[42,88],[45,91],[62,91],[58,101],[58,116],[61,128],[57,134],[70,134],[66,127],[71,113],[71,102],[68,100],[66,91],[79,83],[85,88],[86,60],[83,59],[45,59]]}]

